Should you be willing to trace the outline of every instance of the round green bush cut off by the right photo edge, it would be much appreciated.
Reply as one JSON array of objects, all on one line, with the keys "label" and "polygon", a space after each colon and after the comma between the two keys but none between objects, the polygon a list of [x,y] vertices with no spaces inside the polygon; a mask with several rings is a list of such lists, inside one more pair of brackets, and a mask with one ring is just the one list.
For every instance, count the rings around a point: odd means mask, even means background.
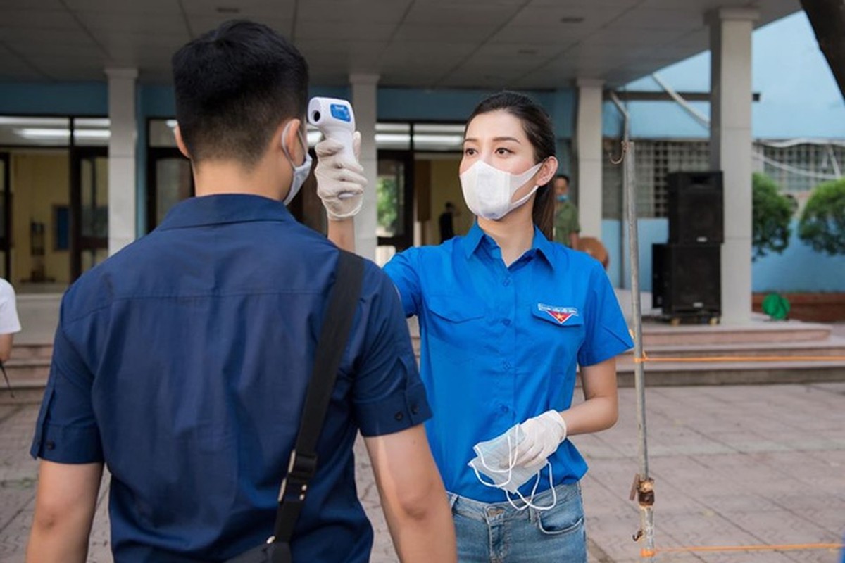
[{"label": "round green bush cut off by the right photo edge", "polygon": [[798,235],[815,252],[845,254],[845,178],[815,187],[801,214]]}]

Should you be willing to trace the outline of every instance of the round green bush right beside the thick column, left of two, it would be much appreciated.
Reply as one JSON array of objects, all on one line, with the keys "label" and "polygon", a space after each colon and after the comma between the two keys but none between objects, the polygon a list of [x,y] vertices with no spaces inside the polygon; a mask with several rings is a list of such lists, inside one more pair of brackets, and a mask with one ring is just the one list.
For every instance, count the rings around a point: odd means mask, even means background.
[{"label": "round green bush right beside the thick column, left of two", "polygon": [[793,204],[769,176],[755,172],[751,177],[751,244],[754,259],[769,252],[781,254],[789,246],[789,221],[792,219]]}]

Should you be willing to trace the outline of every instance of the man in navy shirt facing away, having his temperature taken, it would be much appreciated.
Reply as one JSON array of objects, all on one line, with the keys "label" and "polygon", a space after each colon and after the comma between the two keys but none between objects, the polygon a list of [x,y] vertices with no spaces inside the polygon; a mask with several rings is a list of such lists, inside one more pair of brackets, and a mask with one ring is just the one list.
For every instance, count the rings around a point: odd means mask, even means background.
[{"label": "man in navy shirt facing away, having his temperature taken", "polygon": [[[339,254],[285,207],[310,164],[308,68],[264,25],[227,22],[173,78],[198,197],[63,298],[30,563],[85,561],[104,463],[118,562],[225,560],[273,529]],[[455,560],[429,416],[395,288],[367,263],[293,560],[369,559],[358,429],[401,560]]]}]

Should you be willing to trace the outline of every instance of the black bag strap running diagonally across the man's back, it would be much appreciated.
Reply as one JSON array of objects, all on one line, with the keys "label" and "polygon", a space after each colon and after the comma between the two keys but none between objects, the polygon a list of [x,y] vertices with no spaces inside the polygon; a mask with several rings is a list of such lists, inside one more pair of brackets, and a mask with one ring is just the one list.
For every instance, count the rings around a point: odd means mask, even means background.
[{"label": "black bag strap running diagonally across the man's back", "polygon": [[317,441],[323,429],[341,356],[352,329],[356,304],[361,295],[364,261],[351,252],[338,257],[335,284],[320,329],[311,381],[299,425],[296,446],[291,452],[287,475],[281,482],[279,509],[275,514],[273,538],[268,543],[290,543],[293,528],[308,493],[308,482],[317,471]]}]

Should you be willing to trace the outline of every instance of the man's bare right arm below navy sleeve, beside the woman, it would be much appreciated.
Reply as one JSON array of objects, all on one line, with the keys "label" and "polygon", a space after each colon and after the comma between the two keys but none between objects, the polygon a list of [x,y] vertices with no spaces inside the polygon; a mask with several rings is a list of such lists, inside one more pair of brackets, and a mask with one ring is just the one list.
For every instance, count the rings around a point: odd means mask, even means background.
[{"label": "man's bare right arm below navy sleeve, beside the woman", "polygon": [[423,425],[364,442],[402,563],[456,561],[452,512]]}]

